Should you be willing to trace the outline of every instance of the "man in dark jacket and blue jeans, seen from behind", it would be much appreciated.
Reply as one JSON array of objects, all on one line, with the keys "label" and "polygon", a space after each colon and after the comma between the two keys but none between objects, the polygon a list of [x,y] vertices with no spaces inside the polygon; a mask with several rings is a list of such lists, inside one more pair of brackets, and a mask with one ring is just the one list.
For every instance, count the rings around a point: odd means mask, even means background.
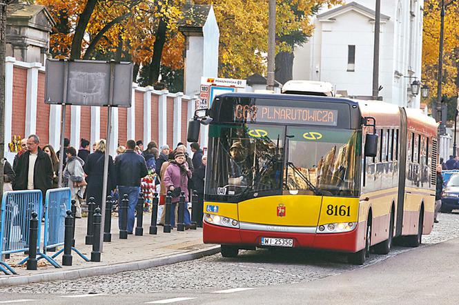
[{"label": "man in dark jacket and blue jeans, seen from behind", "polygon": [[[123,198],[128,194],[128,234],[133,234],[135,206],[140,193],[141,178],[148,174],[144,157],[135,153],[135,141],[126,142],[126,151],[115,159],[115,171],[117,173],[118,193]],[[121,209],[119,209],[119,227],[121,228]]]}]

